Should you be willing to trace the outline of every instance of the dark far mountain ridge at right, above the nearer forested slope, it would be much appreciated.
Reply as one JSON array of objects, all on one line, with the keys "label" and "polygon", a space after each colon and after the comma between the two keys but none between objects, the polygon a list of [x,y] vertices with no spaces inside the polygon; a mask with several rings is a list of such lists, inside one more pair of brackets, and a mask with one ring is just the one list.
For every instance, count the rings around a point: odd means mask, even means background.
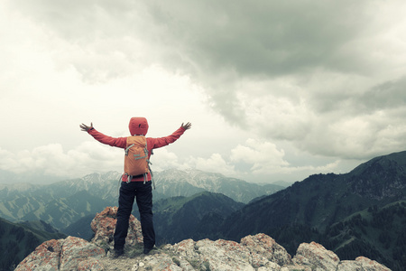
[{"label": "dark far mountain ridge at right, above the nearer forested slope", "polygon": [[235,238],[292,223],[323,231],[355,212],[405,200],[406,152],[401,152],[376,157],[350,173],[311,175],[235,212],[224,229]]}]

